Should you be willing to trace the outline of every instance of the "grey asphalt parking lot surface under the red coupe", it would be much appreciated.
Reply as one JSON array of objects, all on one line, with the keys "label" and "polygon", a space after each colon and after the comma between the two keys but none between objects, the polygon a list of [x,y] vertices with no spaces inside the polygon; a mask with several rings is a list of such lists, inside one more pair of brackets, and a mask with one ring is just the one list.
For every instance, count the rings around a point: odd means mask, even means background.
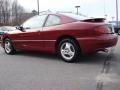
[{"label": "grey asphalt parking lot surface under the red coupe", "polygon": [[120,41],[111,53],[66,63],[56,55],[0,48],[0,90],[120,90]]}]

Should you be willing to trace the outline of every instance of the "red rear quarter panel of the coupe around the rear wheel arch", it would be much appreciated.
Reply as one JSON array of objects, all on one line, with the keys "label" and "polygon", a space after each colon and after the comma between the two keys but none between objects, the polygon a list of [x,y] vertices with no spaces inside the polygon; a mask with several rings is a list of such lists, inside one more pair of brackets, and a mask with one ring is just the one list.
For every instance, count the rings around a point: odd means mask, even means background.
[{"label": "red rear quarter panel of the coupe around the rear wheel arch", "polygon": [[[72,22],[62,25],[44,27],[43,31],[41,32],[43,35],[43,40],[53,40],[50,42],[44,42],[44,48],[46,51],[55,52],[56,41],[58,40],[58,38],[66,35],[72,36],[76,40],[79,38],[82,40],[85,38],[94,37],[95,34],[93,30],[96,26],[97,24],[94,23]],[[82,48],[82,41],[79,44]]]}]

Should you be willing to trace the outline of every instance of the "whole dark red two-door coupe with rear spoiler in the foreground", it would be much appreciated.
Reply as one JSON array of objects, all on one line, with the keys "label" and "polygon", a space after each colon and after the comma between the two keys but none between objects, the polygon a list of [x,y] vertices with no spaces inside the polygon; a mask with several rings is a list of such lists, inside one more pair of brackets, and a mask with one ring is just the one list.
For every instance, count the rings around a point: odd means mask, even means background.
[{"label": "whole dark red two-door coupe with rear spoiler in the foreground", "polygon": [[71,13],[37,15],[3,35],[2,47],[7,54],[16,50],[58,53],[66,62],[80,54],[113,47],[118,41],[113,27],[103,18],[84,19]]}]

